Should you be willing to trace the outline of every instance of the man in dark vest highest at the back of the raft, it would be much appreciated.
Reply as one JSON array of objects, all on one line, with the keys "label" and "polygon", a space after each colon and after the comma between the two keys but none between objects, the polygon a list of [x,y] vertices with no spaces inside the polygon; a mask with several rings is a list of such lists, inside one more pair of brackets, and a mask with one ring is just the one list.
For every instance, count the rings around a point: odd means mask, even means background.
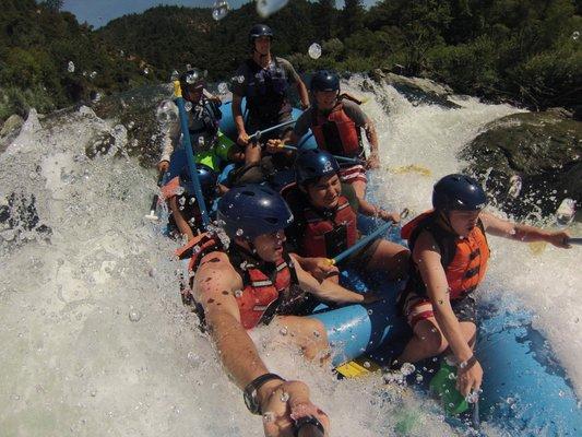
[{"label": "man in dark vest highest at the back of the raft", "polygon": [[[281,138],[290,126],[274,130],[251,141],[250,135],[292,119],[289,87],[295,85],[301,106],[309,106],[307,87],[286,59],[271,54],[274,34],[265,24],[256,24],[249,32],[251,56],[235,73],[233,81],[233,119],[237,143],[245,156],[245,165],[234,175],[234,184],[261,182],[274,172],[293,164],[290,153],[270,154],[261,149],[269,139]],[[242,98],[246,97],[246,117]]]}]

